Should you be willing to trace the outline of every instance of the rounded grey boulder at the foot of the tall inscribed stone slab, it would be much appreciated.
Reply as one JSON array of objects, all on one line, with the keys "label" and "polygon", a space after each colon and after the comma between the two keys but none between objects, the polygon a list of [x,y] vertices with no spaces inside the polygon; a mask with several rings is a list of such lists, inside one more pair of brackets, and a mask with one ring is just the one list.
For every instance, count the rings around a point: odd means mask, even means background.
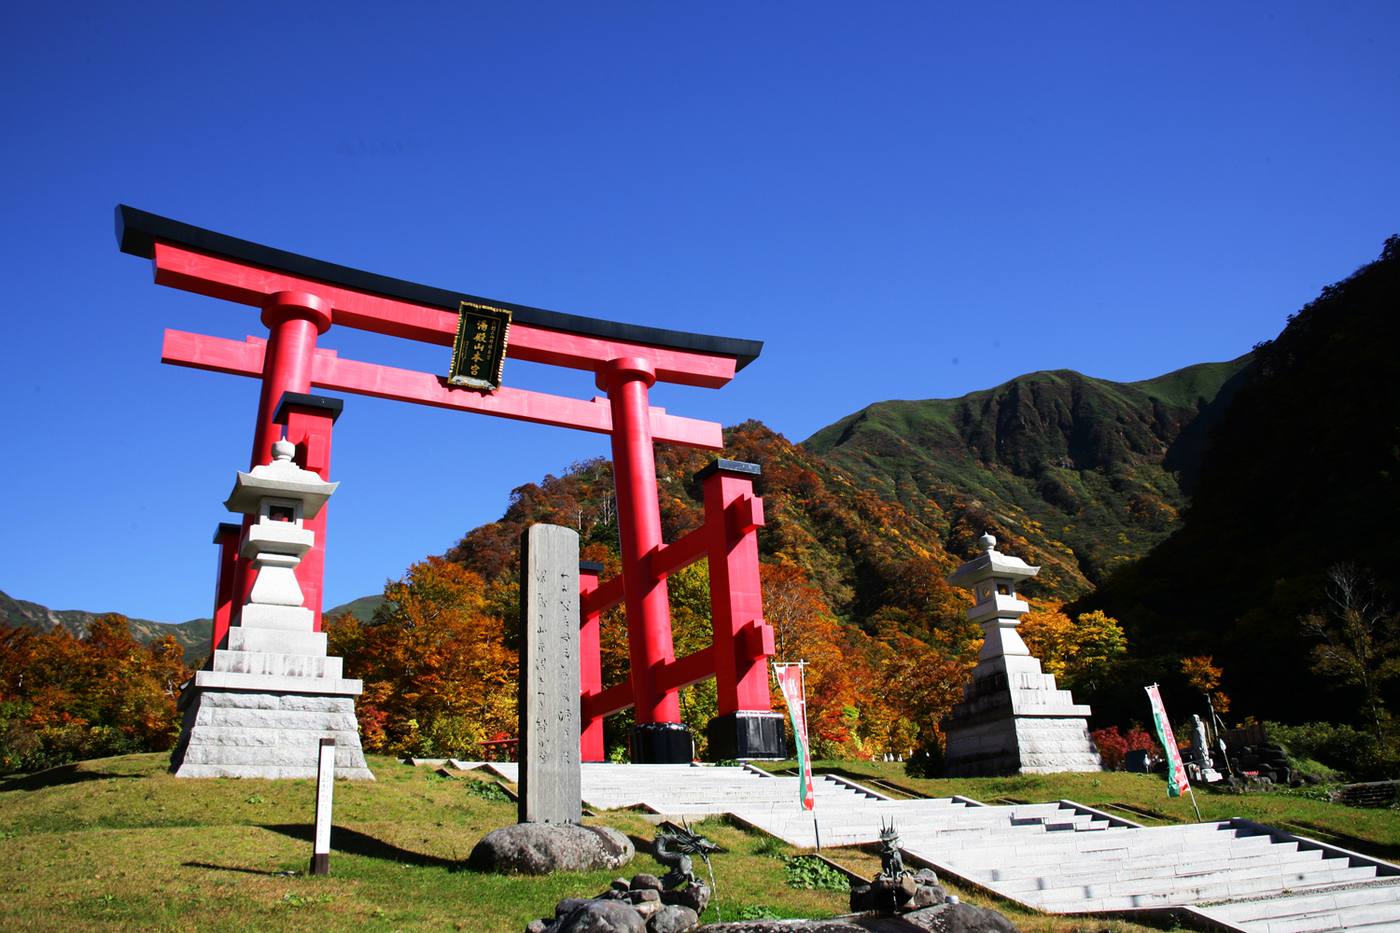
[{"label": "rounded grey boulder at the foot of the tall inscribed stone slab", "polygon": [[610,827],[518,822],[493,829],[476,843],[468,867],[500,874],[549,874],[620,869],[631,862],[631,841]]}]

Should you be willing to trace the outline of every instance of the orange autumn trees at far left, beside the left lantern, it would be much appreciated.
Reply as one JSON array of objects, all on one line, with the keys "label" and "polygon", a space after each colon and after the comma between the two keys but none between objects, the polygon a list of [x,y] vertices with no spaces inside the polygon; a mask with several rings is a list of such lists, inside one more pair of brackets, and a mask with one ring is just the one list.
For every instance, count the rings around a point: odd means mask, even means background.
[{"label": "orange autumn trees at far left, beside the left lantern", "polygon": [[0,772],[169,748],[189,675],[174,637],[141,644],[122,615],[83,636],[0,626]]}]

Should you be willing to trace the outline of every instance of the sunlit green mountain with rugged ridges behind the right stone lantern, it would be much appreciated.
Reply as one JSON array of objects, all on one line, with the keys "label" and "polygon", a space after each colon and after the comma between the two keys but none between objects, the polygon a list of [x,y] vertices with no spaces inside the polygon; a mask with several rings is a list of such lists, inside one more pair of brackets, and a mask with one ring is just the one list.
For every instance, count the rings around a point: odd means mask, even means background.
[{"label": "sunlit green mountain with rugged ridges behind the right stone lantern", "polygon": [[1044,567],[1042,590],[1071,597],[1176,527],[1249,360],[1142,382],[1056,370],[962,398],[878,402],[802,445],[942,530],[955,552],[969,527],[1000,531]]}]

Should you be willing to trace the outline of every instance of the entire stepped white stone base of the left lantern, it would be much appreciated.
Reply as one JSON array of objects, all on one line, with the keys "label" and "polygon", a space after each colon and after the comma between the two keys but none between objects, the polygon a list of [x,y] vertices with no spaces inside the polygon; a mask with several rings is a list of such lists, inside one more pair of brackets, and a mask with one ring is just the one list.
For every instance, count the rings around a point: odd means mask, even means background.
[{"label": "entire stepped white stone base of the left lantern", "polygon": [[340,677],[323,632],[234,626],[228,646],[181,699],[176,778],[315,778],[321,740],[333,738],[336,778],[374,780],[354,716],[361,682]]}]

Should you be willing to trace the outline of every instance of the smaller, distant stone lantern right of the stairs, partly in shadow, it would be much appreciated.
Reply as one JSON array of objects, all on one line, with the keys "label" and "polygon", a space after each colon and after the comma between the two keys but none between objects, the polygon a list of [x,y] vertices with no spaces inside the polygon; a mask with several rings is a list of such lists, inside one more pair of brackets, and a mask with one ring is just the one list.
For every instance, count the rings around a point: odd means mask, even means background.
[{"label": "smaller, distant stone lantern right of the stairs, partly in shadow", "polygon": [[1075,705],[1070,691],[1056,688],[1054,675],[1021,640],[1016,626],[1030,607],[1016,598],[1016,581],[1036,576],[1021,558],[1000,553],[997,539],[980,538],[983,552],[958,567],[948,583],[973,591],[967,618],[986,633],[963,702],[944,721],[949,778],[1102,770],[1089,738],[1089,707]]}]

